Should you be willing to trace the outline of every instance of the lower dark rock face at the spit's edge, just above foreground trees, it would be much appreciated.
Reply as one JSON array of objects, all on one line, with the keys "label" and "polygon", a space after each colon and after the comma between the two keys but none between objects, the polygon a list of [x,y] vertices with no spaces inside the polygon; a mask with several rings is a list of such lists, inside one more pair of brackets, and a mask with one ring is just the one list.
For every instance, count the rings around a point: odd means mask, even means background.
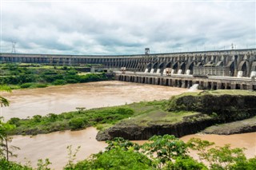
[{"label": "lower dark rock face at the spit's edge, just above foreground trees", "polygon": [[183,121],[174,125],[151,124],[146,127],[119,124],[106,129],[104,132],[98,132],[96,139],[111,140],[114,137],[123,137],[127,140],[147,140],[151,136],[165,134],[180,137],[199,132],[210,125],[214,125],[214,123],[213,119],[206,119],[202,121]]}]

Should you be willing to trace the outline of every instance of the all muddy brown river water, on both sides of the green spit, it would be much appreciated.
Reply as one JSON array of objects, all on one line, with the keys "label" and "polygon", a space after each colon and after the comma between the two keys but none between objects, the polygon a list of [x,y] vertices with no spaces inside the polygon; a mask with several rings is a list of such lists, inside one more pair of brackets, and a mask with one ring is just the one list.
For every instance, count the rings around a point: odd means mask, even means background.
[{"label": "all muddy brown river water, on both sides of the green spit", "polygon": [[[36,114],[62,113],[75,110],[76,107],[86,109],[102,106],[125,105],[137,101],[153,101],[168,99],[188,89],[165,87],[158,85],[143,85],[122,81],[101,81],[76,85],[53,86],[45,89],[14,90],[13,93],[3,93],[10,100],[10,107],[2,108],[5,120],[11,117],[33,117]],[[17,158],[11,158],[26,164],[30,161],[36,166],[38,159],[49,158],[50,168],[62,169],[67,163],[66,147],[81,146],[77,160],[83,160],[92,153],[97,153],[106,147],[105,142],[95,140],[97,130],[86,128],[81,131],[52,132],[37,136],[14,136],[13,144],[21,150],[15,151]],[[190,137],[182,139],[188,140]],[[246,156],[253,157],[256,149],[256,133],[245,133],[233,136],[199,136],[214,141],[216,144],[231,143],[232,147],[247,148]],[[139,141],[140,143],[143,141]],[[26,159],[25,159],[26,158]]]}]

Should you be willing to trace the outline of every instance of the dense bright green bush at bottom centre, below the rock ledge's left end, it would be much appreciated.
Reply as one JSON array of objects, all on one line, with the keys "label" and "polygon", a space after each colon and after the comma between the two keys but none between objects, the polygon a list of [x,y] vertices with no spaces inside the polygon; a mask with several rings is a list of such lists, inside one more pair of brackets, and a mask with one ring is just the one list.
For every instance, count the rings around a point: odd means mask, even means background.
[{"label": "dense bright green bush at bottom centre, below the rock ledge's left end", "polygon": [[[78,162],[74,169],[154,169],[152,160],[138,152],[139,146],[122,137],[108,140],[105,152],[99,152],[88,160]],[[66,168],[69,169],[69,168]]]}]

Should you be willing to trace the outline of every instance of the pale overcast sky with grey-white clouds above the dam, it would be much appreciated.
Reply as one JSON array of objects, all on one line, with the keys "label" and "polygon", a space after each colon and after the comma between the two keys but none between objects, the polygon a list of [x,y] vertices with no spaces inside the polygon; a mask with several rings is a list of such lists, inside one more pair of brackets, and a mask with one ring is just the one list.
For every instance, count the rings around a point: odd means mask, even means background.
[{"label": "pale overcast sky with grey-white clouds above the dam", "polygon": [[135,54],[256,48],[255,1],[5,1],[1,51]]}]

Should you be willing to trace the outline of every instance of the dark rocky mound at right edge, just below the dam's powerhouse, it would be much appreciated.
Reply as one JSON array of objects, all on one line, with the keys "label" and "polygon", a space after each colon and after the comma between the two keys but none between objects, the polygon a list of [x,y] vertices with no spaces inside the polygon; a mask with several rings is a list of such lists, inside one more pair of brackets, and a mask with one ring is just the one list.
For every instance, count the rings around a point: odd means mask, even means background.
[{"label": "dark rocky mound at right edge, just below the dam's powerhouse", "polygon": [[216,113],[221,122],[238,121],[256,115],[256,96],[206,93],[198,96],[174,97],[170,100],[168,110]]}]

